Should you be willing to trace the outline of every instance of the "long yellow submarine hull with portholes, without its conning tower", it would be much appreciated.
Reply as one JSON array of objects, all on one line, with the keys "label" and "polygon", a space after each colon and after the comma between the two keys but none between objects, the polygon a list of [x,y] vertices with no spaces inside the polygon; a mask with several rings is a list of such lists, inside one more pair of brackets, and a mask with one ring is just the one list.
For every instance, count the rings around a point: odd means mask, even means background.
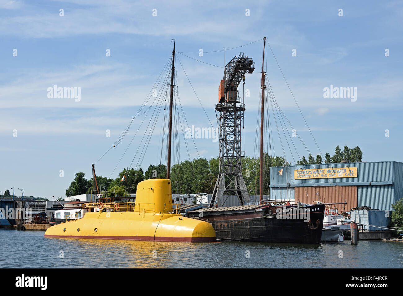
[{"label": "long yellow submarine hull with portholes, without its conning tower", "polygon": [[179,214],[90,212],[50,227],[45,237],[212,242],[216,233],[210,223]]}]

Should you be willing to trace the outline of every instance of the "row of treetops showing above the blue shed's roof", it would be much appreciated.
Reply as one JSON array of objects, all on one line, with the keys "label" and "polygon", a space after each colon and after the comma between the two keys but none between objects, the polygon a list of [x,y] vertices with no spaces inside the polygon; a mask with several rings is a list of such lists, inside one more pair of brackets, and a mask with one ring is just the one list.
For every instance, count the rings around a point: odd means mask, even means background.
[{"label": "row of treetops showing above the blue shed's roof", "polygon": [[[337,164],[340,163],[342,159],[346,159],[346,162],[362,162],[362,151],[359,147],[349,148],[344,146],[343,151],[341,151],[339,145],[334,149],[333,156],[329,153],[325,153],[325,164]],[[303,164],[322,164],[322,156],[320,154],[316,155],[314,158],[311,154],[306,160],[305,156],[301,160],[297,161],[297,165]]]}]

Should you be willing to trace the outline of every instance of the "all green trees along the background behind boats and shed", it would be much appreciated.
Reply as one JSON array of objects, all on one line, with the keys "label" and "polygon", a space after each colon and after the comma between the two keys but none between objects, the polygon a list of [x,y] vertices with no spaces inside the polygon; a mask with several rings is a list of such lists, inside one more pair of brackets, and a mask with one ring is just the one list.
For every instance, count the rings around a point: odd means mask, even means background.
[{"label": "all green trees along the background behind boats and shed", "polygon": [[[349,149],[344,147],[344,151],[341,151],[337,146],[334,155],[330,157],[329,153],[326,153],[326,164],[340,162],[341,159],[346,158],[348,162],[360,161],[362,159],[362,152],[359,147]],[[270,167],[274,166],[289,166],[290,164],[285,161],[282,156],[271,157],[268,153],[264,155],[264,180],[263,188],[264,195],[268,195],[270,185]],[[205,158],[197,158],[192,161],[185,160],[181,163],[174,164],[171,168],[171,186],[172,193],[207,193],[212,194],[214,185],[216,184],[217,176],[219,173],[219,159],[218,157],[207,160]],[[305,157],[302,157],[302,161],[298,161],[297,165],[301,164],[322,164],[322,157],[316,156],[316,159],[309,155],[308,161]],[[142,168],[134,170],[124,169],[119,173],[116,179],[110,179],[102,176],[97,176],[98,188],[101,192],[107,192],[108,196],[113,194],[118,196],[125,196],[125,194],[136,193],[137,184],[146,179],[152,178],[166,178],[166,166],[165,165],[150,165],[144,172]],[[242,160],[242,175],[245,180],[245,184],[249,195],[259,194],[259,171],[260,171],[260,159],[255,157],[246,156]],[[125,176],[126,181],[121,181]],[[85,178],[83,172],[78,172],[75,175],[75,179],[71,182],[69,188],[66,190],[66,196],[80,195],[83,193],[91,193],[93,190],[93,179]],[[178,190],[178,191],[177,191]]]}]

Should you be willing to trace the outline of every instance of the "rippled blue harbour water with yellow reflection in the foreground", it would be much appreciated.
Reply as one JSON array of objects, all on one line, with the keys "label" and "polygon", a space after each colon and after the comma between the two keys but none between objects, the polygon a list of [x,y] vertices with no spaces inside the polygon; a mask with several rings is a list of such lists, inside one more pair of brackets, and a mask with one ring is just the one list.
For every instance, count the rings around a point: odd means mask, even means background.
[{"label": "rippled blue harbour water with yellow reflection in the foreground", "polygon": [[[319,245],[44,238],[0,229],[0,268],[403,268],[403,243]],[[341,257],[342,255],[342,257]]]}]

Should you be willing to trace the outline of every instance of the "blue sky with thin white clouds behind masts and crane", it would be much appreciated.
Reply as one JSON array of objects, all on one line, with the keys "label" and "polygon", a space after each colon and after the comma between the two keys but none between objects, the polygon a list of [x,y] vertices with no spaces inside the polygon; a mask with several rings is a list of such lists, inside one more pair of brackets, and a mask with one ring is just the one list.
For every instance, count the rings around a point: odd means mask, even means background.
[{"label": "blue sky with thin white clouds behind masts and crane", "polygon": [[[272,51],[266,50],[264,70],[307,147],[293,138],[296,149],[283,151],[285,139],[274,131],[275,155],[294,164],[347,145],[359,146],[363,161],[403,162],[402,16],[401,1],[0,0],[0,194],[15,187],[16,195],[21,188],[25,196],[64,197],[77,172],[92,176],[91,164],[110,178],[131,164],[143,170],[159,164],[163,121],[141,157],[136,151],[144,129],[135,135],[141,117],[108,149],[152,91],[172,39],[175,88],[187,125],[217,126],[222,50],[225,62],[243,52],[256,70],[245,79],[250,96],[244,98],[242,150],[255,154],[266,37]],[[49,97],[54,85],[80,88],[79,99]],[[352,87],[356,96],[326,98],[331,85]],[[212,139],[180,137],[174,147],[180,157],[172,163],[218,156]]]}]

